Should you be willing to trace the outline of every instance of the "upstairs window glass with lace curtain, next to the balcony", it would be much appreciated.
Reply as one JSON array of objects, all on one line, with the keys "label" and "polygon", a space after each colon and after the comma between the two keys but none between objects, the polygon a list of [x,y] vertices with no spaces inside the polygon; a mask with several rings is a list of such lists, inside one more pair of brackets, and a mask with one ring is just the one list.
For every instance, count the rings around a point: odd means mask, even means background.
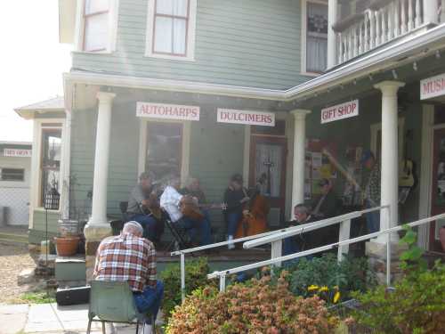
[{"label": "upstairs window glass with lace curtain, next to the balcony", "polygon": [[328,62],[328,5],[306,2],[305,72],[321,73]]}]

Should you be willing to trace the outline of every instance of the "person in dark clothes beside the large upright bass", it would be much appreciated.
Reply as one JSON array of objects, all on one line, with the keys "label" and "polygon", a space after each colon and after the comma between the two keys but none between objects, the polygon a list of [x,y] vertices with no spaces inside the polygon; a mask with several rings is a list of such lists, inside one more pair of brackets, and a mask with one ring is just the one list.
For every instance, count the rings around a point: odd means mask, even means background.
[{"label": "person in dark clothes beside the large upright bass", "polygon": [[[248,200],[250,198],[243,187],[243,176],[239,174],[232,175],[229,187],[224,192],[224,203],[227,205],[224,213],[225,223],[227,224],[227,240],[233,240],[238,224],[243,217],[244,204]],[[228,248],[235,248],[235,245],[230,243]]]}]

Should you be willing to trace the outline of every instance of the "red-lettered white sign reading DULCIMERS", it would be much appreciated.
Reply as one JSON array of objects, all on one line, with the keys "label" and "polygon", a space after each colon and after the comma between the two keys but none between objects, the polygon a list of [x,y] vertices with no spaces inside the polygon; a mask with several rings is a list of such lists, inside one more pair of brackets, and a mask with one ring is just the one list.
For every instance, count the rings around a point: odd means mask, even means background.
[{"label": "red-lettered white sign reading DULCIMERS", "polygon": [[273,112],[218,108],[216,121],[249,126],[275,126],[275,114]]}]

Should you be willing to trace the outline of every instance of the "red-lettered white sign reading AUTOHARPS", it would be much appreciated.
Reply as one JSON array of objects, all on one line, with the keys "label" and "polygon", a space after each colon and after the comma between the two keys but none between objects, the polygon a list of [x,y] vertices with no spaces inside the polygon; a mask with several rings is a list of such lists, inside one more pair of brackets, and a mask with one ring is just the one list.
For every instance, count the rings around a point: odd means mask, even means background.
[{"label": "red-lettered white sign reading AUTOHARPS", "polygon": [[136,116],[141,118],[199,120],[199,107],[189,105],[137,102]]}]

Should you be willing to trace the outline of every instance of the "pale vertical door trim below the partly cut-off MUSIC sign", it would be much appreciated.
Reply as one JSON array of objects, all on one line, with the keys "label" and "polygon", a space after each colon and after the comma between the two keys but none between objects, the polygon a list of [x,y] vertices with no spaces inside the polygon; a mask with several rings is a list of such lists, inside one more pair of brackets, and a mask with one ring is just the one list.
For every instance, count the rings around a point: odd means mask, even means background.
[{"label": "pale vertical door trim below the partly cut-off MUSIC sign", "polygon": [[[420,177],[419,177],[419,218],[425,218],[431,215],[431,190],[433,175],[433,124],[434,124],[434,106],[422,104],[422,151],[420,159]],[[417,243],[419,247],[428,249],[430,244],[429,225],[419,226]]]}]

